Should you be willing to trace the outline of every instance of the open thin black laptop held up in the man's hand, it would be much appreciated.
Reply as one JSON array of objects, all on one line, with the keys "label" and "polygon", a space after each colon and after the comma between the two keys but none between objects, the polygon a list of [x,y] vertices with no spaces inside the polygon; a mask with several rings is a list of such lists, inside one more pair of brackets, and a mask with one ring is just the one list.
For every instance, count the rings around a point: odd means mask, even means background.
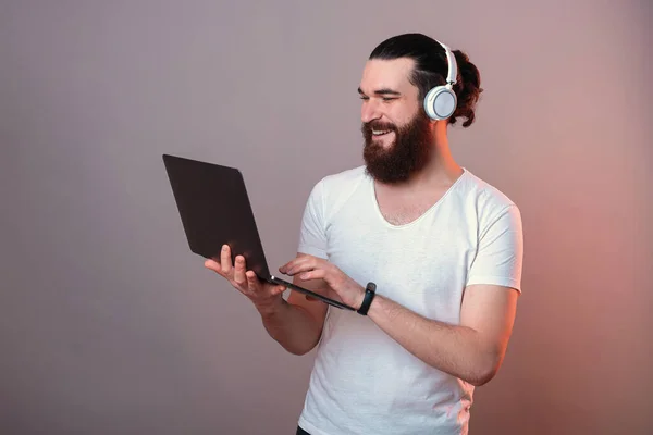
[{"label": "open thin black laptop held up in the man's hand", "polygon": [[222,246],[226,244],[231,248],[232,262],[242,254],[247,270],[254,271],[261,281],[356,311],[270,273],[239,170],[170,154],[163,154],[163,163],[190,251],[207,259],[219,259]]}]

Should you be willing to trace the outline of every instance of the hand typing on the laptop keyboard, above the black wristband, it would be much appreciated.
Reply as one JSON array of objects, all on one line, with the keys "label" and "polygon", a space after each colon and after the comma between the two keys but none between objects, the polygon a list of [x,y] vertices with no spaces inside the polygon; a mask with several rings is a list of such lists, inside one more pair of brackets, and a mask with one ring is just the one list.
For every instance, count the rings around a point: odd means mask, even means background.
[{"label": "hand typing on the laptop keyboard, above the black wristband", "polygon": [[288,276],[299,274],[304,281],[323,279],[344,303],[356,309],[362,303],[365,287],[326,260],[301,256],[282,265],[279,271]]}]

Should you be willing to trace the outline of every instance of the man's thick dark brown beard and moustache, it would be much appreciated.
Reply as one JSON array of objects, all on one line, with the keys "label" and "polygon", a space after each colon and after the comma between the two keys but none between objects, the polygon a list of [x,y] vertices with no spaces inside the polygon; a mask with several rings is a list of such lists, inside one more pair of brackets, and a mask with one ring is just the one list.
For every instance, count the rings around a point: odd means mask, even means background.
[{"label": "man's thick dark brown beard and moustache", "polygon": [[[396,184],[406,182],[421,171],[431,160],[433,152],[430,120],[418,113],[408,124],[397,127],[394,124],[371,121],[361,126],[365,148],[362,157],[367,173],[374,179]],[[372,130],[394,132],[394,141],[387,147],[381,138],[374,139]],[[390,133],[389,133],[390,134]]]}]

